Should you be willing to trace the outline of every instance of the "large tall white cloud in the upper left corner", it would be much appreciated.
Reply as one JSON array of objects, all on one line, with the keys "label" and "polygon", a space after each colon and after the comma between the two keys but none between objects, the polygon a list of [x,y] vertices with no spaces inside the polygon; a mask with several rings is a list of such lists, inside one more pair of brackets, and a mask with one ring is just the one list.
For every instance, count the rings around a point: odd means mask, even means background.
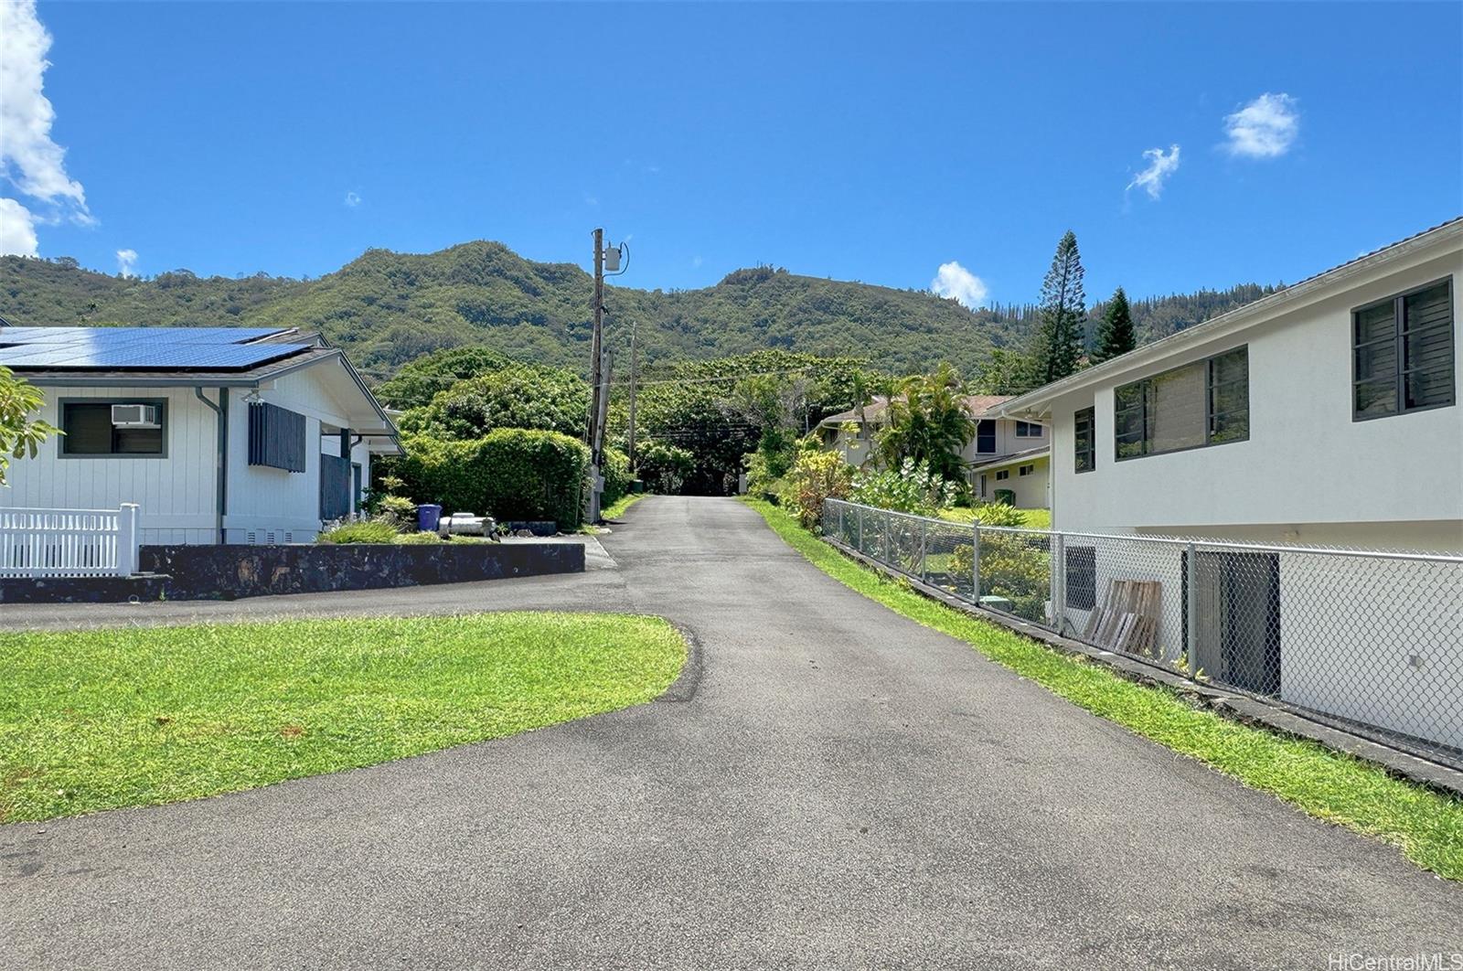
[{"label": "large tall white cloud in the upper left corner", "polygon": [[[35,16],[35,0],[0,3],[0,175],[16,192],[44,206],[48,212],[29,214],[26,225],[34,234],[37,221],[61,218],[91,225],[86,192],[66,174],[66,149],[51,140],[56,110],[42,94],[42,76],[50,61],[51,35]],[[16,212],[20,203],[6,206],[6,238],[10,246],[25,243],[22,230],[16,237]]]}]

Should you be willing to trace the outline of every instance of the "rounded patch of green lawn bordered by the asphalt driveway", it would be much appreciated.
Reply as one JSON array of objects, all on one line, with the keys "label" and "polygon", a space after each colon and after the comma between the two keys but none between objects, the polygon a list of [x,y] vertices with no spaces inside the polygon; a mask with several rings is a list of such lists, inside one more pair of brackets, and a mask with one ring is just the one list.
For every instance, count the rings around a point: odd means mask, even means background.
[{"label": "rounded patch of green lawn bordered by the asphalt driveway", "polygon": [[658,617],[497,613],[0,635],[0,822],[149,806],[648,702]]}]

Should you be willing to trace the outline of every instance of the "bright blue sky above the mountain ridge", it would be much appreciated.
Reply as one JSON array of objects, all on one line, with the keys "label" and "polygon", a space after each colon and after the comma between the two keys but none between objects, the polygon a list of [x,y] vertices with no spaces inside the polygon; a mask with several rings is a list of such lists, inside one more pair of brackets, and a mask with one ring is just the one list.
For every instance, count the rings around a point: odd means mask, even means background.
[{"label": "bright blue sky above the mountain ridge", "polygon": [[[40,63],[6,9],[4,57]],[[0,92],[0,249],[108,272],[473,238],[587,266],[604,225],[626,285],[775,263],[1026,301],[1072,228],[1091,300],[1293,281],[1463,214],[1456,3],[35,16],[54,120]]]}]

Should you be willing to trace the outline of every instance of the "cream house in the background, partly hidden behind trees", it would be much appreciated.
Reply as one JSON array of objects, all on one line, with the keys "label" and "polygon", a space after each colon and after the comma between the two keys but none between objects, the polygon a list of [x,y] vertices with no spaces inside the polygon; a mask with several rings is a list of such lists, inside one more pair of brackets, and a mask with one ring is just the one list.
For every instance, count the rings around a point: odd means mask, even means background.
[{"label": "cream house in the background, partly hidden behind trees", "polygon": [[[976,434],[960,458],[967,464],[966,477],[976,496],[1004,499],[1018,509],[1046,509],[1050,466],[1048,430],[1040,421],[1007,418],[999,408],[1009,395],[967,395],[966,414],[976,423]],[[840,452],[850,465],[869,461],[873,442],[888,418],[890,402],[875,396],[868,405],[824,418],[819,433],[824,445]]]}]

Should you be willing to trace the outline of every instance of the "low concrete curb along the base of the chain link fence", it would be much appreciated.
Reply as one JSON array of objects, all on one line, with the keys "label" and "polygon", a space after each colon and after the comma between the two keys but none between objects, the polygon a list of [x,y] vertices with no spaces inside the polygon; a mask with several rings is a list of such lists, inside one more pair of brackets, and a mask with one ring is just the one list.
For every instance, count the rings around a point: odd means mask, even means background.
[{"label": "low concrete curb along the base of the chain link fence", "polygon": [[1445,765],[1429,762],[1428,759],[1422,759],[1380,741],[1374,741],[1353,731],[1346,731],[1344,728],[1317,721],[1309,715],[1304,715],[1286,706],[1265,702],[1249,695],[1241,695],[1238,692],[1226,692],[1211,684],[1204,684],[1203,681],[1191,681],[1182,674],[1151,661],[1094,648],[1083,643],[1081,641],[1072,641],[1071,638],[1052,633],[1050,630],[1027,623],[1020,617],[1002,614],[985,607],[976,607],[974,604],[969,604],[958,597],[951,595],[948,591],[930,586],[919,578],[901,573],[900,570],[885,566],[878,560],[872,560],[857,550],[838,543],[837,540],[822,537],[822,541],[860,566],[866,566],[878,573],[884,573],[885,576],[907,582],[910,588],[925,597],[929,597],[930,600],[938,600],[947,607],[952,607],[982,620],[1007,627],[1008,630],[1014,630],[1015,633],[1039,641],[1062,654],[1083,657],[1088,661],[1102,664],[1129,681],[1167,687],[1179,695],[1184,695],[1185,698],[1197,700],[1225,718],[1248,725],[1261,725],[1293,738],[1308,738],[1311,741],[1317,741],[1328,749],[1344,752],[1356,756],[1358,759],[1365,759],[1366,762],[1380,765],[1393,775],[1426,785],[1428,788],[1447,796],[1463,798],[1463,772],[1459,772],[1457,769],[1450,769]]}]

